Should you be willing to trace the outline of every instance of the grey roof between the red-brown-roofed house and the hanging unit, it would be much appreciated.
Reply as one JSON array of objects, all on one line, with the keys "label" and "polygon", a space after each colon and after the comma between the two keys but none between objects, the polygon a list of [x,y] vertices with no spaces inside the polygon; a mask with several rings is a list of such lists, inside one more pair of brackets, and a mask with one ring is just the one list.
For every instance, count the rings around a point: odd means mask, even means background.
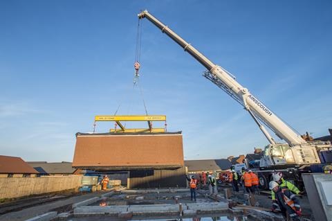
[{"label": "grey roof between the red-brown-roofed house and the hanging unit", "polygon": [[30,161],[27,163],[42,174],[72,174],[76,170],[72,167],[71,162],[47,163],[43,161]]}]

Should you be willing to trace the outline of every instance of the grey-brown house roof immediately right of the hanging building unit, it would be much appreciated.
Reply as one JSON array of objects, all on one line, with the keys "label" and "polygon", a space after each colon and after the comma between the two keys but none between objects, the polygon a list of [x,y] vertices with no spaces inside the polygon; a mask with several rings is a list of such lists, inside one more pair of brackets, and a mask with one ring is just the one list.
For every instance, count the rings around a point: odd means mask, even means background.
[{"label": "grey-brown house roof immediately right of the hanging building unit", "polygon": [[231,163],[228,159],[198,159],[186,160],[185,166],[187,166],[189,172],[204,170],[228,170]]}]

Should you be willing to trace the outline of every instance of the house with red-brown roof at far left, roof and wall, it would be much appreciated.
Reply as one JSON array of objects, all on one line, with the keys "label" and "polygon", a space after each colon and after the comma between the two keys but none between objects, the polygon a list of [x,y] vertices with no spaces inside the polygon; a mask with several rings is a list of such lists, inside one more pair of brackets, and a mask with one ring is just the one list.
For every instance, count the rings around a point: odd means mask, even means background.
[{"label": "house with red-brown roof at far left, roof and wall", "polygon": [[21,157],[0,155],[0,178],[37,177],[38,171],[29,166]]}]

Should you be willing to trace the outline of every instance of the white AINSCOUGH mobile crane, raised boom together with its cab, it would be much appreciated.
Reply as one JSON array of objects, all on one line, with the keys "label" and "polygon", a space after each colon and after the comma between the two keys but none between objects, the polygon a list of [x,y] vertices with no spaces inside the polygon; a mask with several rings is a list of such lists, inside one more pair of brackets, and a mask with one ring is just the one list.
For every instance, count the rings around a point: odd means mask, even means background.
[{"label": "white AINSCOUGH mobile crane, raised boom together with its cab", "polygon": [[[168,35],[184,51],[187,51],[194,59],[200,62],[206,69],[203,73],[205,78],[208,78],[216,86],[223,89],[226,94],[241,104],[244,109],[250,114],[255,123],[259,126],[269,145],[264,150],[264,157],[259,162],[260,170],[289,170],[294,174],[297,168],[308,168],[313,164],[321,163],[318,152],[321,150],[329,150],[331,143],[322,141],[305,141],[297,134],[291,127],[282,121],[271,109],[266,107],[256,96],[252,95],[246,87],[235,80],[231,73],[223,69],[211,60],[205,57],[202,53],[196,50],[194,46],[187,43],[183,38],[174,33],[168,26],[165,26],[156,17],[151,15],[147,10],[138,14],[138,19],[146,18],[152,24],[157,26],[163,33]],[[286,143],[277,143],[273,136],[264,127],[266,125],[270,128],[280,139]],[[291,169],[290,169],[291,168]],[[308,169],[310,170],[310,169]],[[307,170],[302,170],[307,171]],[[296,172],[296,171],[295,171]],[[296,174],[296,173],[295,173]],[[297,175],[298,176],[298,175]],[[260,186],[267,187],[269,177],[264,175],[259,176]],[[301,175],[299,175],[301,177]],[[262,184],[264,183],[264,184]]]}]

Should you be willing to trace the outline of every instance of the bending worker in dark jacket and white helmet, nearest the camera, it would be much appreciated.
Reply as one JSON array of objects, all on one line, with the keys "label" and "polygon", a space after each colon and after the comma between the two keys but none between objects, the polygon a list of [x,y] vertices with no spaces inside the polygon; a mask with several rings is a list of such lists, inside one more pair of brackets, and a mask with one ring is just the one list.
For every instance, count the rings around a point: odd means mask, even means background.
[{"label": "bending worker in dark jacket and white helmet, nearest the camera", "polygon": [[272,211],[279,208],[284,218],[287,219],[287,215],[289,215],[291,220],[299,220],[301,206],[299,206],[299,199],[297,199],[296,195],[289,191],[286,186],[279,186],[275,181],[271,181],[269,187],[275,193]]}]

